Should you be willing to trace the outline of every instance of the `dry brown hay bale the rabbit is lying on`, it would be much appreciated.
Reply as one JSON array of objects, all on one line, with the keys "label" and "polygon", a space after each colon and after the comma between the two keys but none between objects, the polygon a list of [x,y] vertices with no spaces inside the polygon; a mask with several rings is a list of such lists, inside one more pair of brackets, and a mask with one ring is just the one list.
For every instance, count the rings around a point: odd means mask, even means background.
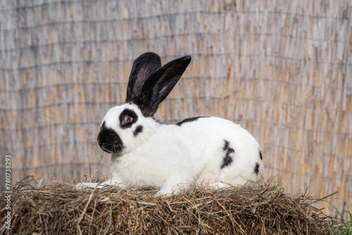
[{"label": "dry brown hay bale the rabbit is lying on", "polygon": [[[274,179],[251,188],[212,191],[194,185],[178,196],[154,198],[154,193],[153,189],[126,190],[112,186],[77,191],[73,184],[41,186],[38,180],[27,177],[13,189],[11,232],[333,234],[336,226],[331,217],[315,208],[321,199],[306,193],[284,193]],[[0,215],[3,220],[4,209]]]}]

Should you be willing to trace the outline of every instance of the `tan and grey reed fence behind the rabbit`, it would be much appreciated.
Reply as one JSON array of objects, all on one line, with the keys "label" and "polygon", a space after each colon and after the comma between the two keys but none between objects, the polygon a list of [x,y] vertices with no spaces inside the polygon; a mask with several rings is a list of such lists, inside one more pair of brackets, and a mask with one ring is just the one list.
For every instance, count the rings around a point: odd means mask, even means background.
[{"label": "tan and grey reed fence behind the rabbit", "polygon": [[[192,61],[156,118],[215,115],[262,148],[267,177],[351,209],[351,1],[0,1],[0,175],[108,177],[96,134],[134,58]],[[1,180],[4,189],[4,180]]]}]

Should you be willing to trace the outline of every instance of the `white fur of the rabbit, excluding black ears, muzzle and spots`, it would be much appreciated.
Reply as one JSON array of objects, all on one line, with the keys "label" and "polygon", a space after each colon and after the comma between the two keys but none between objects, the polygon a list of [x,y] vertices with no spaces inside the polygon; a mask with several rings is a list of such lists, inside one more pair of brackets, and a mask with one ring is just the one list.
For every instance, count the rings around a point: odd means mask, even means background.
[{"label": "white fur of the rabbit, excluding black ears, muzzle and spots", "polygon": [[[125,108],[134,110],[138,120],[130,128],[121,129],[119,115]],[[126,103],[108,110],[103,119],[114,129],[125,148],[113,160],[113,177],[103,182],[119,186],[142,186],[159,189],[156,196],[179,193],[182,187],[196,181],[204,185],[224,187],[259,183],[263,180],[263,161],[256,139],[239,125],[222,118],[199,118],[181,126],[156,122],[142,115],[138,106]],[[143,130],[134,136],[133,130]],[[220,169],[226,151],[224,141],[234,149],[232,163]],[[254,172],[256,163],[259,173]],[[77,188],[94,187],[81,183]]]}]

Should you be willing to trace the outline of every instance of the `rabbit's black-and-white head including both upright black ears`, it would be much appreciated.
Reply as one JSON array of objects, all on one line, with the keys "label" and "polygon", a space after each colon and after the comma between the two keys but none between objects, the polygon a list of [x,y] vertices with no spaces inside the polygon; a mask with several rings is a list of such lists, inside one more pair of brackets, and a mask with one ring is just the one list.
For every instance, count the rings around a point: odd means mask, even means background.
[{"label": "rabbit's black-and-white head including both upright black ears", "polygon": [[125,104],[108,110],[101,123],[98,143],[103,151],[128,153],[155,132],[153,119],[166,96],[191,62],[191,56],[177,58],[161,66],[156,53],[144,53],[132,65]]}]

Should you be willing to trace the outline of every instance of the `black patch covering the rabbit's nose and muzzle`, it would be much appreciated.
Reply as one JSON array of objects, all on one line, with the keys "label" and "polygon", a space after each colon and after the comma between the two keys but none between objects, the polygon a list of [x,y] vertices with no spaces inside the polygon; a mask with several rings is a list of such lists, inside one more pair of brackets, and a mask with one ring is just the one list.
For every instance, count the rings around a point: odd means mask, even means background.
[{"label": "black patch covering the rabbit's nose and muzzle", "polygon": [[97,141],[101,149],[107,153],[121,153],[122,149],[125,148],[118,133],[106,127],[105,122],[100,127]]}]

